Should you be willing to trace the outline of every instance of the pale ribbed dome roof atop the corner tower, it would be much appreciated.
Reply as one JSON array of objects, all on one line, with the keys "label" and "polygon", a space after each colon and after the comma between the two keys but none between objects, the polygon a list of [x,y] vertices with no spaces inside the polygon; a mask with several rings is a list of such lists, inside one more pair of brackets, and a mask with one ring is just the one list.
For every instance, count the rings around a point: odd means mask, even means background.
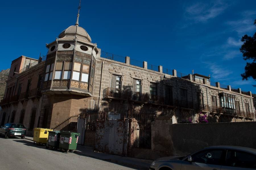
[{"label": "pale ribbed dome roof atop the corner tower", "polygon": [[90,35],[84,30],[84,28],[78,25],[69,26],[66,30],[59,34],[59,38],[63,38],[66,35],[78,35],[80,37],[86,38],[89,42],[92,41]]}]

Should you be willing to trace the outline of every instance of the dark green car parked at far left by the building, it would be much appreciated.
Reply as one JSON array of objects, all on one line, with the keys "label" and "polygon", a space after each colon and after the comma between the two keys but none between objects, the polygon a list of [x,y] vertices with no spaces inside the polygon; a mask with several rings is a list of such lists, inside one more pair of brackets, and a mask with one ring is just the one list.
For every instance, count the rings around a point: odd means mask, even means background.
[{"label": "dark green car parked at far left by the building", "polygon": [[21,137],[25,138],[26,128],[20,123],[6,123],[0,128],[0,134],[4,135],[6,139],[9,137]]}]

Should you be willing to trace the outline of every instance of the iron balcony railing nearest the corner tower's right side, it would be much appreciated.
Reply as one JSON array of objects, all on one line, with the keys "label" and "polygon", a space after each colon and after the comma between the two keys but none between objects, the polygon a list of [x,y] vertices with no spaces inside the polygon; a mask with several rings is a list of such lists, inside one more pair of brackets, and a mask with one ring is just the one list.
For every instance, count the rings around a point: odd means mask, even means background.
[{"label": "iron balcony railing nearest the corner tower's right side", "polygon": [[103,90],[103,98],[127,98],[128,91],[108,87]]}]

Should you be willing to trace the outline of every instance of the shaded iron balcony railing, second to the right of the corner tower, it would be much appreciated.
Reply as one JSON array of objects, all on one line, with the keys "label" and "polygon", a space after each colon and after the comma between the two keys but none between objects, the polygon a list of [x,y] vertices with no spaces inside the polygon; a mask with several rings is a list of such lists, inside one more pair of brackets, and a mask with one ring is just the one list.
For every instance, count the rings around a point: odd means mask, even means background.
[{"label": "shaded iron balcony railing, second to the right of the corner tower", "polygon": [[149,95],[146,93],[139,93],[134,91],[129,92],[129,100],[152,104],[164,104],[164,97],[162,96]]}]

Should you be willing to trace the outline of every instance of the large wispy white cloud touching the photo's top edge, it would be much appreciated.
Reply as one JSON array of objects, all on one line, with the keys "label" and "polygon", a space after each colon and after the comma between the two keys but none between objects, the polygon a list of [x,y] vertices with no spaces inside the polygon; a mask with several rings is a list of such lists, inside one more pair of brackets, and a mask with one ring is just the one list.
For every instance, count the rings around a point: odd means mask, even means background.
[{"label": "large wispy white cloud touching the photo's top edge", "polygon": [[228,4],[222,1],[215,1],[210,4],[196,3],[185,9],[185,16],[195,20],[195,22],[206,22],[220,15],[227,7]]}]

